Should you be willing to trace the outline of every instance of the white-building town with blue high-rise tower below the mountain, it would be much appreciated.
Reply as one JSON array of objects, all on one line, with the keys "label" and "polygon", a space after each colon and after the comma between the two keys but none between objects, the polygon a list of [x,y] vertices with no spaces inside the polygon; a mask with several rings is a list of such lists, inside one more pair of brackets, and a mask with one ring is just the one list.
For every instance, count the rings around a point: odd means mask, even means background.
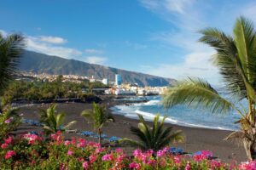
[{"label": "white-building town with blue high-rise tower below the mountain", "polygon": [[122,77],[116,74],[113,81],[108,78],[82,77],[77,75],[50,75],[46,73],[36,74],[33,72],[21,71],[16,80],[23,80],[33,82],[40,80],[42,82],[53,82],[58,77],[61,77],[61,82],[102,82],[106,88],[96,88],[94,91],[101,92],[101,94],[113,95],[161,95],[164,94],[167,87],[141,87],[137,83],[122,82]]}]

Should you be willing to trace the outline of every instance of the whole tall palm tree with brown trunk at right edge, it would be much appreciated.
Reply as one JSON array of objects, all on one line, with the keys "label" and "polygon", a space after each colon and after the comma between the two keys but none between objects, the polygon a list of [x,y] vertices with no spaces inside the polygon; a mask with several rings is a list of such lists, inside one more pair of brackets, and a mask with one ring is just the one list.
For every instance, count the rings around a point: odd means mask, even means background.
[{"label": "whole tall palm tree with brown trunk at right edge", "polygon": [[241,99],[247,99],[247,110],[237,107],[229,99],[225,99],[217,90],[199,78],[189,78],[178,82],[170,88],[164,97],[164,105],[201,106],[212,113],[229,113],[236,111],[241,119],[241,130],[231,133],[226,139],[241,139],[250,160],[256,158],[256,31],[250,20],[240,17],[236,20],[233,36],[226,35],[215,28],[200,31],[201,42],[215,48],[212,56],[213,64],[218,67],[224,86],[232,97],[241,105]]}]

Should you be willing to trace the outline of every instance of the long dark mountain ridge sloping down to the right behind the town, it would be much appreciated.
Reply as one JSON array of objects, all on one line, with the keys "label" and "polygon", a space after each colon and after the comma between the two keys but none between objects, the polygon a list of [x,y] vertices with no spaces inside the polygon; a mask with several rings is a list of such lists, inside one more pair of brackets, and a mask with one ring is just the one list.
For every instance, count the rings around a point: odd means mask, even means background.
[{"label": "long dark mountain ridge sloping down to the right behind the town", "polygon": [[20,71],[32,71],[35,73],[48,73],[57,75],[79,75],[95,78],[108,78],[114,81],[114,75],[119,74],[122,82],[137,82],[140,86],[167,86],[174,79],[155,77],[134,71],[125,71],[108,66],[94,65],[74,59],[63,59],[61,57],[39,54],[25,51],[20,63]]}]

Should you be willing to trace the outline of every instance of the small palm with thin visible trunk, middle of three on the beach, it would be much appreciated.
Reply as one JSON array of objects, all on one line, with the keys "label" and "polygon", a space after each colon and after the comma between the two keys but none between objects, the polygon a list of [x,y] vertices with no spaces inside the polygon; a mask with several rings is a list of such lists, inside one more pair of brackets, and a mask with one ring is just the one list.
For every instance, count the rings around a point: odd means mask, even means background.
[{"label": "small palm with thin visible trunk, middle of three on the beach", "polygon": [[106,122],[114,122],[113,115],[106,112],[106,108],[96,103],[92,104],[92,110],[82,111],[81,116],[84,116],[90,122],[93,122],[98,133],[99,144],[102,144],[102,127]]}]

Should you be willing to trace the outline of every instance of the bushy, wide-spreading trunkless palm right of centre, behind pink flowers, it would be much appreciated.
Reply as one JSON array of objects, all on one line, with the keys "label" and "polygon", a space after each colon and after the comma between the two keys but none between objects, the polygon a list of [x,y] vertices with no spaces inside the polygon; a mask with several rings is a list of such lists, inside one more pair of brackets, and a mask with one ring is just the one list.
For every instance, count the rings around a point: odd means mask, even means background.
[{"label": "bushy, wide-spreading trunkless palm right of centre, behind pink flowers", "polygon": [[164,116],[159,123],[160,115],[154,116],[153,127],[148,127],[147,122],[145,122],[143,116],[137,115],[140,122],[137,127],[131,127],[131,133],[137,135],[139,141],[132,139],[121,139],[122,143],[136,145],[143,150],[160,150],[168,144],[173,142],[182,142],[183,135],[181,131],[176,131],[172,133],[172,127],[164,128],[164,122],[166,116]]}]

